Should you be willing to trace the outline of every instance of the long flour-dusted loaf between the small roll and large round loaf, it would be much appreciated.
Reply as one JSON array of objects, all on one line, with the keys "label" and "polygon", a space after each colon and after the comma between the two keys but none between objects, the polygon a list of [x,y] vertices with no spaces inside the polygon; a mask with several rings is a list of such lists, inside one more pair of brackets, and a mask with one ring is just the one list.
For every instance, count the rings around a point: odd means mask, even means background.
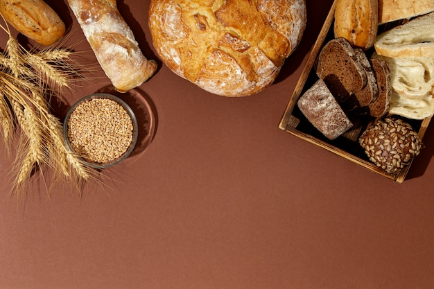
[{"label": "long flour-dusted loaf between the small roll and large round loaf", "polygon": [[96,59],[118,91],[137,87],[155,73],[157,63],[141,52],[116,0],[68,2]]}]

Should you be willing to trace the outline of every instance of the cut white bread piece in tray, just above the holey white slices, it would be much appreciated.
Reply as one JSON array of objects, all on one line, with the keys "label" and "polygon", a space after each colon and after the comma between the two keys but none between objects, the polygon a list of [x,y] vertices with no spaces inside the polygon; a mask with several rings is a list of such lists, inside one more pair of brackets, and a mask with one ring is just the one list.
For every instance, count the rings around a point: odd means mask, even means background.
[{"label": "cut white bread piece in tray, just above the holey white slices", "polygon": [[375,51],[391,58],[434,56],[434,12],[386,30],[376,37]]}]

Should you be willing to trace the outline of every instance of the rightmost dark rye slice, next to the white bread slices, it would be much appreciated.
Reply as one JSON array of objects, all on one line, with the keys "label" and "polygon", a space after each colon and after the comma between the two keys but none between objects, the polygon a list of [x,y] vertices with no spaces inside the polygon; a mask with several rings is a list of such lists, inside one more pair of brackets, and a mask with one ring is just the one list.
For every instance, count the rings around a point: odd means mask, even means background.
[{"label": "rightmost dark rye slice, next to the white bread slices", "polygon": [[389,112],[390,99],[392,98],[392,83],[390,82],[390,71],[387,62],[372,58],[371,63],[379,88],[379,96],[368,105],[368,108],[372,116],[380,117]]}]

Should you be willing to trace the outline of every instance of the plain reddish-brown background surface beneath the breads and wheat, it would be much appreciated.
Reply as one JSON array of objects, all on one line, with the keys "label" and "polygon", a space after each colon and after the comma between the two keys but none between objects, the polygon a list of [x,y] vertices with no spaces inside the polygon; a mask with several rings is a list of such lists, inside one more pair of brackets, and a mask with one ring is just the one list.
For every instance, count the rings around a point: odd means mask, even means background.
[{"label": "plain reddish-brown background surface beneath the breads and wheat", "polygon": [[[47,3],[76,27],[63,1]],[[157,59],[149,1],[118,5]],[[159,62],[140,87],[153,141],[82,198],[35,181],[17,207],[3,153],[0,288],[434,288],[433,128],[403,184],[278,128],[331,1],[307,6],[301,46],[260,94],[211,95]]]}]

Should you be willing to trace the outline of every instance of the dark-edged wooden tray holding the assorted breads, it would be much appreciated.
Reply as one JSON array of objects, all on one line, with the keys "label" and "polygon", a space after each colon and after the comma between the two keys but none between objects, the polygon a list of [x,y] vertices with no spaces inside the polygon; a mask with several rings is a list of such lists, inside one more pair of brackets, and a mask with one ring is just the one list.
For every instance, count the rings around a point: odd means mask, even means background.
[{"label": "dark-edged wooden tray holding the assorted breads", "polygon": [[[358,137],[360,137],[366,128],[368,128],[369,125],[375,121],[372,116],[352,116],[351,121],[354,123],[354,127],[348,132],[345,132],[345,134],[342,134],[342,136],[338,137],[337,139],[330,141],[318,130],[313,128],[313,125],[306,120],[297,107],[298,98],[302,96],[304,91],[313,85],[315,80],[318,80],[318,76],[316,76],[315,69],[313,68],[315,65],[315,60],[317,59],[318,53],[320,53],[322,46],[326,43],[326,40],[331,40],[333,38],[333,19],[335,7],[336,1],[334,1],[333,5],[331,6],[329,14],[327,15],[327,19],[324,22],[324,26],[322,26],[322,29],[320,30],[320,35],[313,46],[311,55],[304,66],[293,94],[290,96],[284,116],[279,123],[279,128],[295,135],[296,137],[300,137],[309,143],[313,143],[316,146],[320,146],[321,148],[329,150],[340,157],[344,157],[345,159],[363,166],[363,168],[367,168],[374,173],[388,177],[395,182],[402,183],[406,178],[411,163],[408,166],[402,168],[399,173],[386,173],[367,158],[365,152],[363,152],[363,149],[358,144]],[[423,139],[426,129],[428,128],[428,125],[431,121],[431,117],[422,121],[410,119],[405,119],[405,121],[410,123],[413,129],[419,133],[419,137]]]}]

